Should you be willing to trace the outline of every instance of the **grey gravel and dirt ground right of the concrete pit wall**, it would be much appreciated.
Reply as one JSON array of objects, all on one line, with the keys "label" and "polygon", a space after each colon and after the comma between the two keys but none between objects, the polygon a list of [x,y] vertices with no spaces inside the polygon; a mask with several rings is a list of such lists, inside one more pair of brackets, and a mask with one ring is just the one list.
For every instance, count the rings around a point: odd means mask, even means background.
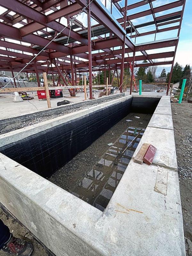
[{"label": "grey gravel and dirt ground right of the concrete pit wall", "polygon": [[[177,114],[177,115],[176,115]],[[192,256],[192,104],[172,103],[186,255]]]}]

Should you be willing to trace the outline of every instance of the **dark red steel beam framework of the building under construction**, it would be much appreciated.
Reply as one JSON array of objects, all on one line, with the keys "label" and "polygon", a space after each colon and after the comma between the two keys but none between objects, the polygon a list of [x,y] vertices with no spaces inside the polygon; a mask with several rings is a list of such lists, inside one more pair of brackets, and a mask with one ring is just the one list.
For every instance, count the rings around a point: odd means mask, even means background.
[{"label": "dark red steel beam framework of the building under construction", "polygon": [[[0,15],[0,70],[11,71],[12,74],[14,71],[19,72],[37,55],[23,72],[27,72],[27,75],[36,73],[39,86],[38,73],[59,74],[65,86],[66,78],[71,85],[76,85],[76,73],[89,72],[92,99],[92,72],[99,71],[100,74],[100,71],[105,71],[106,74],[106,69],[114,70],[113,77],[116,72],[122,91],[124,68],[132,65],[131,94],[134,68],[171,65],[168,93],[186,0],[171,0],[169,4],[154,8],[154,3],[158,4],[158,1],[142,0],[129,4],[125,0],[125,6],[121,7],[119,0],[111,0],[109,12],[106,1],[104,6],[100,0],[0,0],[0,6],[6,10]],[[137,8],[141,6],[145,6],[146,10],[137,12]],[[113,17],[113,8],[118,10],[121,18]],[[173,8],[180,8],[180,11],[174,11]],[[77,15],[81,11],[87,15],[87,27],[78,20]],[[133,14],[129,15],[130,11]],[[166,14],[160,14],[164,11]],[[152,17],[151,21],[134,24],[134,20],[149,15]],[[63,17],[68,23],[66,27],[62,24]],[[96,20],[97,24],[92,26],[91,19]],[[155,30],[143,33],[138,31],[140,28],[150,28],[148,26],[151,25],[155,26]],[[156,40],[158,33],[173,30],[177,30],[177,37]],[[142,44],[133,41],[148,35],[154,35],[154,41]],[[174,50],[167,52],[167,47],[174,47]],[[162,52],[147,53],[148,50],[156,49],[161,49]],[[165,60],[166,58],[171,60]],[[164,61],[155,62],[156,59]],[[147,63],[138,63],[142,60],[147,60]],[[120,78],[118,69],[121,70]],[[68,73],[72,74],[71,79]],[[71,95],[75,95],[75,91]]]}]

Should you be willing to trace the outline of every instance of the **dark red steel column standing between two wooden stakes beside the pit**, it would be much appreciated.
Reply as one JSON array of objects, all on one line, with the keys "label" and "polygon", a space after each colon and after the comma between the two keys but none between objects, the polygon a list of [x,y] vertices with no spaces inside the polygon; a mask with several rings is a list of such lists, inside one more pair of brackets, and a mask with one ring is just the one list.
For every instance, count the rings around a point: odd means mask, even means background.
[{"label": "dark red steel column standing between two wooden stakes beside the pit", "polygon": [[91,0],[88,0],[87,29],[88,29],[88,52],[89,52],[89,98],[92,96],[92,41],[91,41]]}]

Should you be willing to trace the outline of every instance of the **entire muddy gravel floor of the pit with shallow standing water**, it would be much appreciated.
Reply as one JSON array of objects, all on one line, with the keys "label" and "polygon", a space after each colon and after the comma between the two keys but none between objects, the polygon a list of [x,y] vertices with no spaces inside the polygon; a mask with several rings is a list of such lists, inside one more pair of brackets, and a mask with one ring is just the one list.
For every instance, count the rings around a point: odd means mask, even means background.
[{"label": "entire muddy gravel floor of the pit with shallow standing water", "polygon": [[151,115],[130,113],[49,180],[104,211],[150,118]]}]

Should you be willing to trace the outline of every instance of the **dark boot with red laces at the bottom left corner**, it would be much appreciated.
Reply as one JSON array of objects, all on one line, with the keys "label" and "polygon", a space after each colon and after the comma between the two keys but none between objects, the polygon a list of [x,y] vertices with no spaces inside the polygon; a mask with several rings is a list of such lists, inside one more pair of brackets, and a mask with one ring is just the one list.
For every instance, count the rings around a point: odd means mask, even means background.
[{"label": "dark boot with red laces at the bottom left corner", "polygon": [[4,244],[2,251],[8,255],[31,256],[33,245],[25,240],[12,236],[10,240]]}]

